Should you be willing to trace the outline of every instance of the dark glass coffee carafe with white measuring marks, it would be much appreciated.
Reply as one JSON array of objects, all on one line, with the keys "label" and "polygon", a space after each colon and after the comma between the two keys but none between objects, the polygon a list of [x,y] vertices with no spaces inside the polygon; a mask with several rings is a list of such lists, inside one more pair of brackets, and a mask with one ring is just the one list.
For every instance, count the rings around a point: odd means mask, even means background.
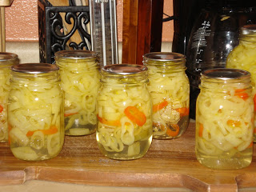
[{"label": "dark glass coffee carafe with white measuring marks", "polygon": [[246,4],[241,6],[238,1],[208,2],[206,8],[201,10],[186,47],[186,73],[190,78],[190,118],[195,118],[201,72],[226,67],[227,55],[238,45],[239,28],[255,23],[255,16],[255,7]]}]

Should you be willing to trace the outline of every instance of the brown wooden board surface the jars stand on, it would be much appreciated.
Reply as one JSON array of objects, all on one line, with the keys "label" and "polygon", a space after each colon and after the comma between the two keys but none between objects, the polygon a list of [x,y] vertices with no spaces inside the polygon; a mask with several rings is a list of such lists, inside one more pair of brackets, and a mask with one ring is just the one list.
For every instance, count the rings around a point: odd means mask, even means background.
[{"label": "brown wooden board surface the jars stand on", "polygon": [[0,143],[0,185],[29,180],[68,182],[95,186],[182,187],[196,191],[237,191],[256,187],[256,145],[249,167],[210,170],[194,154],[194,122],[181,138],[153,140],[140,159],[117,161],[102,156],[95,134],[67,137],[58,157],[42,162],[14,158]]}]

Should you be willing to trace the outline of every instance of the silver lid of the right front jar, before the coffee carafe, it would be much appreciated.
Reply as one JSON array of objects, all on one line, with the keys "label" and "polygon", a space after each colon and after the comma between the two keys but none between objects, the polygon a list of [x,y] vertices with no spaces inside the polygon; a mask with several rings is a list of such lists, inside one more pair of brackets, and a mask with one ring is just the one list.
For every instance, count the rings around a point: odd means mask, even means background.
[{"label": "silver lid of the right front jar, before the coffee carafe", "polygon": [[246,70],[228,69],[228,68],[215,68],[210,70],[204,70],[201,73],[207,78],[214,78],[220,80],[229,79],[246,79],[250,78],[250,72]]}]

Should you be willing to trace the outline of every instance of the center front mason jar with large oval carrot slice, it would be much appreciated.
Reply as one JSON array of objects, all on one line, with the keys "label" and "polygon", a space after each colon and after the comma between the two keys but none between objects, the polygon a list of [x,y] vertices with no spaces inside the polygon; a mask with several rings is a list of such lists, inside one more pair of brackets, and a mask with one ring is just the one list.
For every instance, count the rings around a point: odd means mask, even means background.
[{"label": "center front mason jar with large oval carrot slice", "polygon": [[142,158],[152,142],[152,102],[146,66],[113,64],[102,68],[98,94],[98,147],[108,158]]}]

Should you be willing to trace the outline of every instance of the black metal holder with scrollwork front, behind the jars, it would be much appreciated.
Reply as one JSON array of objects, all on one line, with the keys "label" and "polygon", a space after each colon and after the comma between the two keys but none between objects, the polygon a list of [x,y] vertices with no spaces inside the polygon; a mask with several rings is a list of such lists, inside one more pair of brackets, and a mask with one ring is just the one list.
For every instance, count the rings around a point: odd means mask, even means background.
[{"label": "black metal holder with scrollwork front, behind the jars", "polygon": [[[91,36],[86,31],[90,22],[90,7],[52,6],[47,0],[38,0],[38,35],[40,62],[54,63],[54,53],[59,50],[91,50]],[[64,21],[63,21],[64,19]],[[71,30],[66,30],[72,25]],[[81,42],[71,42],[78,31]]]}]

